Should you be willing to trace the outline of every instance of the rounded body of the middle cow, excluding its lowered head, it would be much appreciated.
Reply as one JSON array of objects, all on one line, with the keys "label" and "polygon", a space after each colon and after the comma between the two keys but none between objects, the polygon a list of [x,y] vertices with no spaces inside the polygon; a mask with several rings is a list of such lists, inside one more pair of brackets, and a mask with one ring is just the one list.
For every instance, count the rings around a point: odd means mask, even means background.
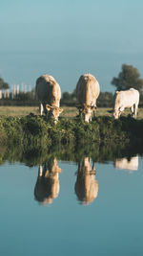
[{"label": "rounded body of the middle cow, excluding its lowered head", "polygon": [[100,93],[99,83],[91,74],[82,75],[76,85],[79,104],[94,105]]}]

